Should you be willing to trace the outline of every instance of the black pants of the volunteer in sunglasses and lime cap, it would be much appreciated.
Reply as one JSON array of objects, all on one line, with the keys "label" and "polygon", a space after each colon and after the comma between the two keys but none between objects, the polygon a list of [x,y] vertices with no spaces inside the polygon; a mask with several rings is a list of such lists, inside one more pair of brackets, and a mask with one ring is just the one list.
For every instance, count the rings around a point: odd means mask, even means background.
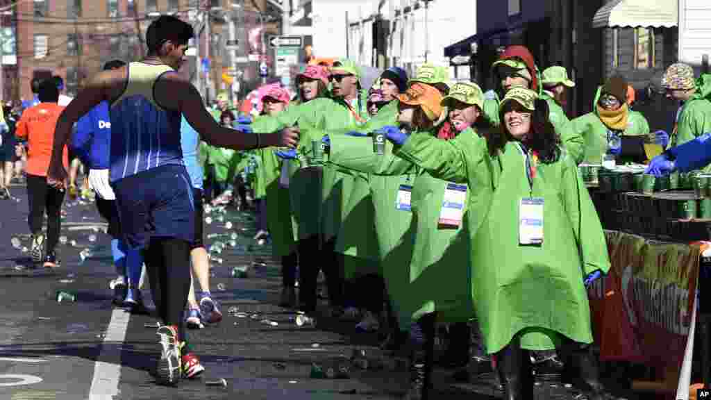
[{"label": "black pants of the volunteer in sunglasses and lime cap", "polygon": [[306,312],[316,310],[316,280],[319,270],[326,275],[328,302],[333,307],[343,307],[343,276],[341,260],[334,251],[335,239],[324,244],[319,251],[319,236],[310,236],[299,241],[299,301]]}]

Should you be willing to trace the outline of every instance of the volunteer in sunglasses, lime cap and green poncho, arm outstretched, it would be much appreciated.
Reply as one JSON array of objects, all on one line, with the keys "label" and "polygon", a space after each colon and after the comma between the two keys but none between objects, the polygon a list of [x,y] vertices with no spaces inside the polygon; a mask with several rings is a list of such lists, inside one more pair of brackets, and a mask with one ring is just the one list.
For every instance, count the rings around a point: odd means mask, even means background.
[{"label": "volunteer in sunglasses, lime cap and green poncho, arm outstretched", "polygon": [[[321,140],[326,132],[333,131],[342,135],[349,130],[365,129],[368,125],[365,99],[360,96],[357,75],[358,67],[353,62],[341,60],[341,66],[333,70],[331,75],[332,98],[316,98],[304,104],[289,107],[274,117],[259,117],[252,122],[252,129],[254,132],[260,133],[284,129],[300,130],[300,147],[297,149],[299,157],[313,157],[312,141]],[[377,120],[377,118],[373,120]],[[373,121],[371,120],[371,122]],[[296,124],[298,127],[294,127]],[[353,175],[326,165],[323,169],[320,196],[316,193],[309,193],[310,197],[306,199],[312,204],[321,204],[321,207],[315,211],[314,209],[309,210],[314,213],[314,219],[319,221],[317,228],[321,241],[326,242],[324,250],[319,253],[300,251],[299,297],[302,308],[306,312],[316,310],[316,276],[319,273],[319,268],[323,269],[326,275],[331,310],[338,313],[339,307],[343,307],[342,278],[339,276],[338,265],[333,263],[331,254],[336,247],[336,236],[344,218],[352,219],[352,223],[361,221],[361,225],[368,222],[366,215],[353,214],[349,216],[348,200],[354,194],[360,195],[363,191],[367,191],[367,187],[360,191],[355,189]],[[372,219],[370,221],[372,222]],[[299,230],[301,230],[302,223],[304,221],[299,221]],[[373,236],[375,235],[368,235],[368,229],[360,228],[357,236],[360,241],[368,243],[368,241],[374,241]],[[301,235],[299,237],[301,238]],[[309,246],[309,248],[313,248],[313,246]]]}]

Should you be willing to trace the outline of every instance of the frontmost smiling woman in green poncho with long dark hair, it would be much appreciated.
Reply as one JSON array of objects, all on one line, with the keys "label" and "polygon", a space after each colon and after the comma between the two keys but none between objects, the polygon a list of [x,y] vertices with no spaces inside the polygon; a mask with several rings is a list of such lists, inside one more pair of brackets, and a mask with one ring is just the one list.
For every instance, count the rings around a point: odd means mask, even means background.
[{"label": "frontmost smiling woman in green poncho with long dark hair", "polygon": [[441,142],[400,132],[387,138],[398,157],[470,188],[471,290],[505,398],[533,392],[524,349],[563,345],[580,367],[584,389],[601,399],[604,387],[587,345],[592,330],[584,283],[609,270],[606,242],[576,164],[560,149],[547,115],[535,92],[513,88],[501,104],[501,132],[486,140]]}]

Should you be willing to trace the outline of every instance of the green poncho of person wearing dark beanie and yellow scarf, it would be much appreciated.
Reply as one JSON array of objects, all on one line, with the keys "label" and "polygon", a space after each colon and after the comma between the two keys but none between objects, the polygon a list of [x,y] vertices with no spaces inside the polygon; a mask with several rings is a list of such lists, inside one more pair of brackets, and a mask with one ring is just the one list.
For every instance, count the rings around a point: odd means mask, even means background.
[{"label": "green poncho of person wearing dark beanie and yellow scarf", "polygon": [[[602,156],[607,152],[607,132],[608,128],[602,123],[597,115],[597,100],[600,97],[600,88],[595,95],[593,112],[575,118],[570,121],[568,129],[574,135],[582,136],[585,141],[583,161],[587,164],[602,164]],[[624,132],[618,132],[621,136],[642,136],[648,135],[649,124],[646,118],[637,111],[629,110],[627,115],[627,128]]]}]

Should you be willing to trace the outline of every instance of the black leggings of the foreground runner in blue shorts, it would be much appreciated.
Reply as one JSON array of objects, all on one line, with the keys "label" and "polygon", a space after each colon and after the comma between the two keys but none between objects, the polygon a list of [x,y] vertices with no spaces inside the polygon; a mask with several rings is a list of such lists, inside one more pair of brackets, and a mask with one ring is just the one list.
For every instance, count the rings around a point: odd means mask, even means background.
[{"label": "black leggings of the foreground runner in blue shorts", "polygon": [[183,310],[190,291],[190,243],[176,238],[151,238],[144,249],[144,260],[159,317],[165,325],[177,325],[178,336],[187,340]]}]

